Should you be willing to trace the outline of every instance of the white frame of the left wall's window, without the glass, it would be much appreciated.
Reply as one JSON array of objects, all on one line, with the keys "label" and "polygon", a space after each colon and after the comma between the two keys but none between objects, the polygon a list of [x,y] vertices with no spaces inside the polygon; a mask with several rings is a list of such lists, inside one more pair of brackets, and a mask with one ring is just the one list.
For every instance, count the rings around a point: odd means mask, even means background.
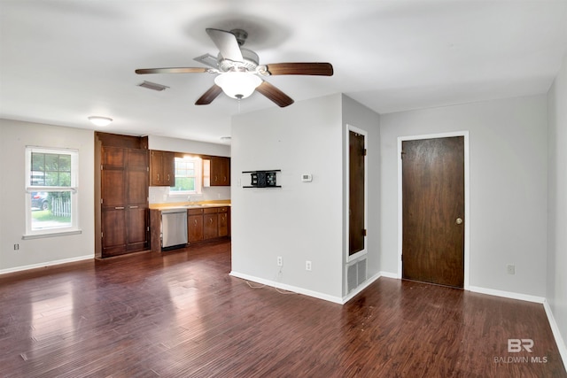
[{"label": "white frame of the left wall's window, without the glass", "polygon": [[[70,185],[69,186],[49,186],[32,185],[32,154],[60,154],[71,156]],[[40,237],[75,235],[81,234],[79,228],[79,150],[65,148],[50,148],[40,146],[26,146],[26,175],[24,182],[25,191],[25,211],[26,211],[26,233],[23,239],[35,239]],[[45,184],[45,182],[43,182]],[[32,192],[69,192],[71,197],[71,223],[68,226],[34,229],[32,226]]]}]

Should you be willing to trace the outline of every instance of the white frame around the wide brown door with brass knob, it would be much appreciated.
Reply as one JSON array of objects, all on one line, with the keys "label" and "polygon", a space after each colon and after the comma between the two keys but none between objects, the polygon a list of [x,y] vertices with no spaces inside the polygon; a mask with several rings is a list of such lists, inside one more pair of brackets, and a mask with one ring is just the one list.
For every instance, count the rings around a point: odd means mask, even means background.
[{"label": "white frame around the wide brown door with brass knob", "polygon": [[401,146],[405,141],[416,141],[421,139],[448,138],[462,136],[464,143],[464,288],[470,286],[470,160],[469,160],[469,131],[454,131],[439,134],[398,136],[398,278],[401,279],[402,265],[402,243],[403,243],[403,219],[402,219],[402,165]]}]

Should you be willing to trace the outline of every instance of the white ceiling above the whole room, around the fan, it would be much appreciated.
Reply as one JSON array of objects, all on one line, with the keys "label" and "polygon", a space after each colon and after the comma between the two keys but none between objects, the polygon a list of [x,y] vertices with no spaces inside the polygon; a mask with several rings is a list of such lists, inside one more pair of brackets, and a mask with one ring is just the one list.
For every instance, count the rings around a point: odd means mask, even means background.
[{"label": "white ceiling above the whole room, around the fan", "polygon": [[202,66],[193,58],[217,54],[206,27],[247,30],[260,64],[330,62],[331,77],[268,77],[296,102],[342,92],[398,112],[547,92],[567,0],[0,0],[0,118],[95,128],[87,117],[102,115],[111,133],[221,143],[232,115],[276,104],[196,106],[213,74],[134,73]]}]

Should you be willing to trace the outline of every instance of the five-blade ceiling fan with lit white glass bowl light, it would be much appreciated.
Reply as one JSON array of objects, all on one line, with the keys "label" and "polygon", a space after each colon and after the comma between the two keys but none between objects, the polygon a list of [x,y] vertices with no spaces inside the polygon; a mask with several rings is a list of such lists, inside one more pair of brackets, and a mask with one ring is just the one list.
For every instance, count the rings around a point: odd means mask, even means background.
[{"label": "five-blade ceiling fan with lit white glass bowl light", "polygon": [[139,68],[136,73],[217,73],[214,85],[200,96],[196,105],[211,104],[224,91],[227,96],[242,99],[257,90],[280,107],[293,104],[293,99],[262,78],[271,75],[332,76],[330,63],[272,63],[260,65],[258,54],[242,47],[248,33],[242,29],[225,31],[206,28],[206,33],[219,49],[219,55],[195,58],[206,67]]}]

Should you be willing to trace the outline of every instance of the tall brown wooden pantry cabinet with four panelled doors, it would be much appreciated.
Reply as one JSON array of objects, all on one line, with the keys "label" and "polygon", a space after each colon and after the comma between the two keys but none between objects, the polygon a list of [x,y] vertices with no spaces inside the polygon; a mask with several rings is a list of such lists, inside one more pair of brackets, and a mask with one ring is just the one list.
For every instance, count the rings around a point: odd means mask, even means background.
[{"label": "tall brown wooden pantry cabinet with four panelled doors", "polygon": [[101,257],[148,249],[148,150],[103,146],[101,163]]}]

